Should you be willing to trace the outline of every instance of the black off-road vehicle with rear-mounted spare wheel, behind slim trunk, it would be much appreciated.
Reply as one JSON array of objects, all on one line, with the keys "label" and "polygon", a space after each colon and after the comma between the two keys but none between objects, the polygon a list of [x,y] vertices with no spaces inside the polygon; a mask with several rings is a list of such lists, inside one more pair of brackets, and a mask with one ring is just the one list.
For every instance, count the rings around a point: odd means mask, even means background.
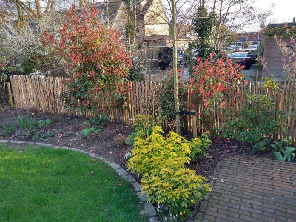
[{"label": "black off-road vehicle with rear-mounted spare wheel, behind slim trunk", "polygon": [[[177,48],[177,56],[178,56],[178,68],[181,68],[181,65],[185,64],[185,50],[181,48]],[[173,48],[171,47],[160,47],[158,53],[158,67],[163,70],[169,66],[173,65]]]}]

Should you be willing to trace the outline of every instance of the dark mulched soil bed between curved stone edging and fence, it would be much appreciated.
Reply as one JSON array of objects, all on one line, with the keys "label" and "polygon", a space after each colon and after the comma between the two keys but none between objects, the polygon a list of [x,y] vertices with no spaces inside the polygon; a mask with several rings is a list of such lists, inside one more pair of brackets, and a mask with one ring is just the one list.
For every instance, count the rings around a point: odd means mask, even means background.
[{"label": "dark mulched soil bed between curved stone edging and fence", "polygon": [[[9,121],[10,118],[17,118],[18,115],[27,115],[27,111],[23,109],[8,108],[4,112],[0,112],[0,132],[4,129],[2,125],[5,121]],[[48,115],[46,113],[40,113],[37,116],[37,119],[48,119]],[[60,116],[58,123],[52,123],[50,126],[41,129],[37,128],[37,131],[40,131],[41,133],[54,133],[54,136],[48,138],[45,143],[95,152],[102,157],[108,157],[108,159],[115,161],[122,167],[126,168],[124,154],[129,152],[132,149],[132,146],[125,145],[123,148],[117,148],[114,144],[114,138],[120,132],[124,135],[128,135],[132,132],[132,129],[126,124],[123,125],[110,122],[104,126],[102,132],[99,132],[92,141],[89,141],[87,138],[81,137],[81,129],[78,129],[84,121],[84,118]],[[13,121],[13,124],[15,133],[5,137],[0,136],[0,139],[32,142],[30,138],[24,137],[25,132],[21,133],[15,120]],[[67,134],[69,135],[66,136]],[[34,142],[37,141],[38,140],[34,140]],[[40,142],[44,143],[44,141]]]}]

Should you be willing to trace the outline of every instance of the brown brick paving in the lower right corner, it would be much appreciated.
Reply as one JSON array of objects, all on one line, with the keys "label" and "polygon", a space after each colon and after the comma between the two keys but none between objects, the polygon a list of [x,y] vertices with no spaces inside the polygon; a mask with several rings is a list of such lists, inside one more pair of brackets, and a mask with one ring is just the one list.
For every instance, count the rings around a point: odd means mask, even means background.
[{"label": "brown brick paving in the lower right corner", "polygon": [[235,155],[220,161],[214,176],[213,192],[195,222],[296,222],[295,163]]}]

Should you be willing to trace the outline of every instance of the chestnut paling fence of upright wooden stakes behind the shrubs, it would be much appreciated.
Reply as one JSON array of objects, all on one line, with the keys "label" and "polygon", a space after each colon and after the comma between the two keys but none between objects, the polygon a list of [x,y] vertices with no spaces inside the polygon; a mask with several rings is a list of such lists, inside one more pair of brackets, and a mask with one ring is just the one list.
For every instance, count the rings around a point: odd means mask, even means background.
[{"label": "chestnut paling fence of upright wooden stakes behind the shrubs", "polygon": [[[62,91],[62,81],[63,78],[56,77],[44,77],[44,76],[34,76],[34,75],[11,75],[10,76],[11,87],[16,108],[27,108],[29,106],[35,105],[39,107],[43,112],[47,112],[46,99],[44,94],[51,95],[50,98],[54,99],[60,113],[64,115],[78,116],[79,114],[74,110],[66,111],[63,108],[63,104],[58,103],[59,96]],[[162,87],[161,82],[152,81],[136,81],[132,82],[131,89],[128,92],[127,101],[123,108],[113,109],[110,113],[110,120],[114,122],[125,122],[127,124],[132,124],[135,121],[135,116],[138,114],[145,114],[145,107],[148,106],[149,97],[153,96],[152,91]],[[243,109],[243,105],[246,104],[246,93],[253,92],[257,95],[266,95],[274,99],[274,106],[272,111],[284,110],[286,112],[286,118],[284,122],[285,130],[278,129],[274,132],[273,138],[283,138],[284,132],[290,131],[290,136],[293,146],[296,145],[296,128],[295,128],[295,117],[293,114],[296,107],[296,89],[291,83],[283,83],[278,90],[267,90],[264,87],[260,87],[259,84],[249,83],[247,85],[237,84],[232,87],[228,92],[224,94],[223,101],[226,103],[226,109],[221,109],[222,101],[217,104],[213,104],[212,112],[210,113],[213,119],[211,123],[211,128],[220,128],[223,126],[225,121],[231,120],[232,113],[238,112]],[[108,103],[104,98],[99,97],[98,99],[101,107],[108,106]],[[189,104],[193,103],[194,110],[196,110],[198,117],[202,118],[203,113],[203,103],[195,102],[195,98],[192,95],[185,95],[185,100]],[[192,106],[191,106],[192,107]],[[49,107],[50,108],[50,107]],[[91,115],[91,113],[89,113]],[[277,118],[275,115],[272,116],[273,119]],[[183,132],[197,132],[202,133],[205,130],[205,126],[201,123],[195,126],[194,121],[192,121],[192,116],[181,116],[181,129]],[[209,126],[207,126],[209,127]],[[291,130],[289,130],[291,128]]]}]

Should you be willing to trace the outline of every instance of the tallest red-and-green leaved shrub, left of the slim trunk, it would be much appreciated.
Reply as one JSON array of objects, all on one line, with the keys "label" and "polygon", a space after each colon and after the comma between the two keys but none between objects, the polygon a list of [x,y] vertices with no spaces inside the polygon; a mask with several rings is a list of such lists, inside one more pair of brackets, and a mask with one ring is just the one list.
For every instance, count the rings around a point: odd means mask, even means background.
[{"label": "tallest red-and-green leaved shrub, left of the slim trunk", "polygon": [[[131,67],[120,34],[101,24],[99,14],[95,6],[78,10],[73,5],[66,12],[68,24],[60,30],[61,40],[53,40],[46,32],[41,38],[64,62],[70,78],[62,94],[65,107],[90,112],[95,118],[122,104]],[[99,96],[104,96],[104,102]]]}]

